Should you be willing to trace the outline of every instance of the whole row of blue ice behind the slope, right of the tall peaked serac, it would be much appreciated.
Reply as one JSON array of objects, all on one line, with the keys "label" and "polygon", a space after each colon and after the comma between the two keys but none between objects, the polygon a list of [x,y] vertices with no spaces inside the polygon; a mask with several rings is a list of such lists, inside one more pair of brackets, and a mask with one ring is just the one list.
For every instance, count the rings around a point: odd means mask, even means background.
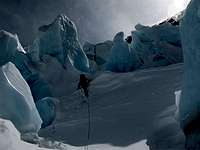
[{"label": "whole row of blue ice behind the slope, right of the tall peaked serac", "polygon": [[[132,37],[132,41],[129,42],[124,40],[122,32],[115,36],[114,41],[98,44],[86,42],[83,49],[91,67],[97,71],[107,69],[113,72],[127,72],[183,62],[179,30],[183,14],[184,12],[181,12],[154,26],[136,25],[129,36]],[[119,38],[120,42],[117,42],[116,38]]]}]

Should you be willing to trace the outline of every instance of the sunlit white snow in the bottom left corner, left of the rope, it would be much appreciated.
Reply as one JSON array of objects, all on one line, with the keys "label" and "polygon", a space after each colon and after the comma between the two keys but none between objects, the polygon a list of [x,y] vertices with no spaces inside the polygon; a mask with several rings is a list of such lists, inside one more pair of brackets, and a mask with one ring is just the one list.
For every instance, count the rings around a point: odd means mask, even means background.
[{"label": "sunlit white snow in the bottom left corner, left of the rope", "polygon": [[40,138],[38,144],[21,140],[21,134],[9,120],[0,118],[0,150],[81,150],[81,148]]}]

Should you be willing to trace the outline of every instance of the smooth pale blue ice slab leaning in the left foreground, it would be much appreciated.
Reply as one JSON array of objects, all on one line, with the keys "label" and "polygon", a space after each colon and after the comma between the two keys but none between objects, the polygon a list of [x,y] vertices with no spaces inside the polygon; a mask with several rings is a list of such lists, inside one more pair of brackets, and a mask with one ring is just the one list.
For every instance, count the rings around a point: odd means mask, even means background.
[{"label": "smooth pale blue ice slab leaning in the left foreground", "polygon": [[37,133],[42,120],[20,72],[7,63],[0,68],[0,78],[0,116],[11,120],[22,134]]}]

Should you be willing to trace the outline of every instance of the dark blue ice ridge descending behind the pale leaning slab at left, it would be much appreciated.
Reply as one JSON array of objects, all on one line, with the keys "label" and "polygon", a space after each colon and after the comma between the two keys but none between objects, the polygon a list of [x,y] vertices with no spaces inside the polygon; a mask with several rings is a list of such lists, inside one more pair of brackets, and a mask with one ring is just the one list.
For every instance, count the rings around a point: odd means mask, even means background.
[{"label": "dark blue ice ridge descending behind the pale leaning slab at left", "polygon": [[1,63],[12,62],[20,71],[23,78],[28,83],[34,101],[44,97],[51,97],[48,83],[39,76],[39,73],[31,67],[32,62],[21,46],[17,35],[6,31],[0,31]]}]

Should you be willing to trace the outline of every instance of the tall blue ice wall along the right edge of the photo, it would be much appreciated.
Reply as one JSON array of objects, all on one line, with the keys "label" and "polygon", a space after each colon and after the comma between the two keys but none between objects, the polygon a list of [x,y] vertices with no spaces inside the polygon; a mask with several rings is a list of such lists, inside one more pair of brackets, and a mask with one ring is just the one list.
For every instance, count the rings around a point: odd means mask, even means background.
[{"label": "tall blue ice wall along the right edge of the photo", "polygon": [[180,124],[188,149],[200,148],[200,1],[192,0],[180,31],[184,52],[184,78],[180,101]]}]

